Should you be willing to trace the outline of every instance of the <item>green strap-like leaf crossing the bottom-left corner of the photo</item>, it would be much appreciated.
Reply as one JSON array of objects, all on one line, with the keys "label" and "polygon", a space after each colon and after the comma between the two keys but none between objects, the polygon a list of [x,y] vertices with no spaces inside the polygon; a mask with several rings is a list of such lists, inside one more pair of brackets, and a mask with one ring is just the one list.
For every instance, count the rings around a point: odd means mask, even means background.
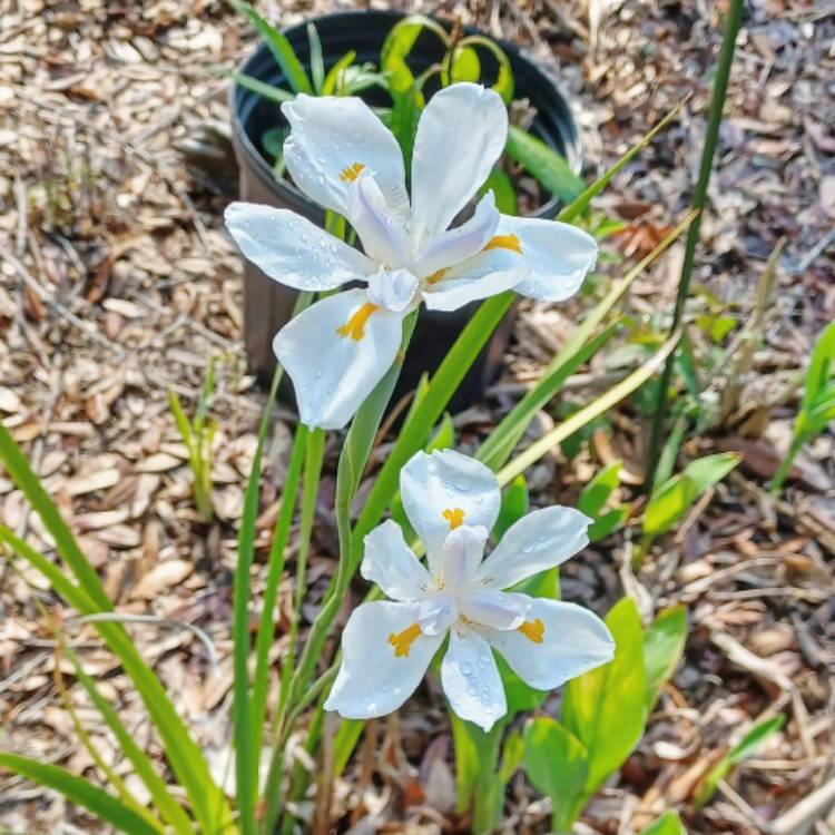
[{"label": "green strap-like leaf crossing the bottom-left corner of the photo", "polygon": [[158,829],[120,800],[66,768],[4,753],[0,753],[0,767],[40,786],[55,789],[70,803],[84,806],[100,821],[115,826],[118,832],[126,835],[159,835]]}]

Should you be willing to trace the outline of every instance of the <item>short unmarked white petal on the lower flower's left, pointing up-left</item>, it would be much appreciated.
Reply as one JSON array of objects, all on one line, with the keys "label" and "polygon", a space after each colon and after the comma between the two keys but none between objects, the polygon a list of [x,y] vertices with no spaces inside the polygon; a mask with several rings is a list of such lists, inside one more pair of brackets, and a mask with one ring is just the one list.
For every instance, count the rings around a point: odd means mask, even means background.
[{"label": "short unmarked white petal on the lower flower's left, pointing up-left", "polygon": [[393,600],[416,600],[432,588],[432,578],[391,519],[365,537],[362,576]]}]

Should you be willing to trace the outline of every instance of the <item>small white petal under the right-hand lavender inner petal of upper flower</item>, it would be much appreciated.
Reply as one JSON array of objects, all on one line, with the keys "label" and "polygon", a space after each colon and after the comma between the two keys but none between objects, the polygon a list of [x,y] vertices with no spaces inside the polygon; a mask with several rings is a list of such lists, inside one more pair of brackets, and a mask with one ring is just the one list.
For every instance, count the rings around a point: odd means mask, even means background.
[{"label": "small white petal under the right-hand lavender inner petal of upper flower", "polygon": [[527,275],[519,255],[507,249],[490,249],[441,272],[423,287],[423,301],[430,311],[456,311],[470,302],[513,289]]}]

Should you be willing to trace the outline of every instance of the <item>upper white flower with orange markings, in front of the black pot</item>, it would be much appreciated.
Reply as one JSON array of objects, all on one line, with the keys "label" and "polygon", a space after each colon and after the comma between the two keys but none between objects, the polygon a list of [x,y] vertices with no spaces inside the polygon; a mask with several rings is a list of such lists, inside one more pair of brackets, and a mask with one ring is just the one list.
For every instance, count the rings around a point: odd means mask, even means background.
[{"label": "upper white flower with orange markings, in front of the black pot", "polygon": [[394,361],[403,317],[421,301],[452,311],[514,287],[559,302],[595,263],[591,236],[500,215],[492,193],[449,228],[504,148],[508,115],[492,90],[456,84],[432,97],[414,141],[411,204],[397,141],[362,99],[299,95],[282,110],[293,179],[344,215],[364,249],[287,209],[233,203],[226,210],[244,255],[275,281],[316,292],[366,285],[320,301],[275,337],[310,426],[341,429],[351,420]]}]

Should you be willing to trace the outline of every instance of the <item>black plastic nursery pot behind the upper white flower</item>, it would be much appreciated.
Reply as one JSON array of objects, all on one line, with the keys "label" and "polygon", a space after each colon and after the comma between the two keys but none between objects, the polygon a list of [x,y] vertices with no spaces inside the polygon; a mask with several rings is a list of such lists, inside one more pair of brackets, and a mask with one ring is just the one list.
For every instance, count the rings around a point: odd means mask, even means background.
[{"label": "black plastic nursery pot behind the upper white flower", "polygon": [[[356,63],[380,63],[380,50],[386,35],[403,17],[396,11],[340,12],[312,18],[285,30],[299,60],[310,69],[310,41],[307,23],[313,22],[322,41],[325,69],[330,69],[345,52],[356,52]],[[449,29],[449,23],[440,21]],[[478,30],[466,29],[468,33]],[[581,165],[579,132],[571,110],[556,82],[522,56],[510,43],[501,42],[510,59],[515,79],[514,98],[527,98],[536,110],[531,132],[562,154],[571,167],[579,171]],[[440,40],[422,32],[409,56],[409,66],[418,75],[438,63],[443,57]],[[487,77],[491,68],[485,58]],[[262,43],[240,67],[240,72],[276,87],[289,85],[267,47]],[[429,87],[425,90],[431,95]],[[385,91],[372,88],[363,92],[370,105],[391,104]],[[240,199],[288,208],[324,225],[324,212],[308,200],[289,180],[278,179],[272,169],[272,158],[264,149],[262,138],[276,127],[286,125],[278,105],[268,101],[239,85],[230,90],[233,143],[239,165]],[[551,218],[558,202],[544,200],[533,215]],[[252,366],[261,374],[272,374],[275,366],[273,336],[287,322],[297,292],[271,281],[256,266],[246,263],[244,273],[244,341]],[[453,313],[430,312],[423,308],[409,347],[394,402],[416,385],[424,372],[432,373],[446,355],[452,343],[466,324],[478,303]],[[451,403],[453,410],[465,409],[480,400],[487,386],[495,380],[502,367],[504,352],[513,326],[514,308],[495,328],[459,387]]]}]

